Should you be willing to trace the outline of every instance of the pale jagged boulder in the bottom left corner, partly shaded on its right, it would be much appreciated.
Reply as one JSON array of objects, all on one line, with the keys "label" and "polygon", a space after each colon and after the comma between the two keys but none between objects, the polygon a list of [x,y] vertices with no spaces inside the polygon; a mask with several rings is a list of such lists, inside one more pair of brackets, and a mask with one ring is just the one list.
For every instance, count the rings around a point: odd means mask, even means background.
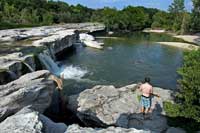
[{"label": "pale jagged boulder in the bottom left corner, partly shaded on its right", "polygon": [[0,129],[1,133],[64,133],[67,126],[25,107],[1,122]]}]

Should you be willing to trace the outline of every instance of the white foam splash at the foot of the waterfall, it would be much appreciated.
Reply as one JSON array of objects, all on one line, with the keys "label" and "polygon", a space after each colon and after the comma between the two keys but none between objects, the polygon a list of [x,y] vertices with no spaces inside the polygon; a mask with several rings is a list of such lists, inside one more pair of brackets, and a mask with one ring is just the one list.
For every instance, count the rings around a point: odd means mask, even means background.
[{"label": "white foam splash at the foot of the waterfall", "polygon": [[70,65],[62,67],[60,76],[64,79],[80,80],[87,73],[87,70],[83,70],[80,67]]}]

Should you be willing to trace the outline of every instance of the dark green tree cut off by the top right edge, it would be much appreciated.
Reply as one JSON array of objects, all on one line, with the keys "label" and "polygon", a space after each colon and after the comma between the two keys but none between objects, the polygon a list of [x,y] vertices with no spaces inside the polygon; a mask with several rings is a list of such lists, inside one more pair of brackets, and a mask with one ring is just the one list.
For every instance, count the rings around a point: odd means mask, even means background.
[{"label": "dark green tree cut off by the top right edge", "polygon": [[192,0],[194,9],[192,10],[192,30],[200,32],[200,0]]}]

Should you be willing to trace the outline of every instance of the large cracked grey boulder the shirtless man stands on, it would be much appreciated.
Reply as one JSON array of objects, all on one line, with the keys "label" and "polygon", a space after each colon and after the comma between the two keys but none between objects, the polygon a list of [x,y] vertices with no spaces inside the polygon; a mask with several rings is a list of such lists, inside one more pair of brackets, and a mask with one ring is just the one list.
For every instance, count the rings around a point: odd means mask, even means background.
[{"label": "large cracked grey boulder the shirtless man stands on", "polygon": [[79,119],[90,126],[118,126],[124,128],[149,129],[161,132],[168,128],[163,110],[163,101],[171,101],[171,91],[154,88],[154,93],[161,98],[152,100],[153,111],[148,119],[140,114],[139,96],[137,85],[122,88],[114,86],[95,86],[79,95],[69,97],[68,108]]}]

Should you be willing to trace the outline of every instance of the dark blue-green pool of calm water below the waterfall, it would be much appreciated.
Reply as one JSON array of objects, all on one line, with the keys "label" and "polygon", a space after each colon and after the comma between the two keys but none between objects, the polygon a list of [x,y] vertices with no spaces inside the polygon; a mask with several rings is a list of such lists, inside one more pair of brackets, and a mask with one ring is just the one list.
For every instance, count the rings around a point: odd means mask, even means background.
[{"label": "dark blue-green pool of calm water below the waterfall", "polygon": [[182,65],[183,50],[160,45],[158,41],[180,41],[164,34],[129,33],[117,39],[101,39],[103,50],[78,46],[62,64],[78,66],[88,73],[80,80],[66,80],[65,92],[78,93],[94,85],[117,87],[151,78],[154,86],[175,89],[177,69]]}]

